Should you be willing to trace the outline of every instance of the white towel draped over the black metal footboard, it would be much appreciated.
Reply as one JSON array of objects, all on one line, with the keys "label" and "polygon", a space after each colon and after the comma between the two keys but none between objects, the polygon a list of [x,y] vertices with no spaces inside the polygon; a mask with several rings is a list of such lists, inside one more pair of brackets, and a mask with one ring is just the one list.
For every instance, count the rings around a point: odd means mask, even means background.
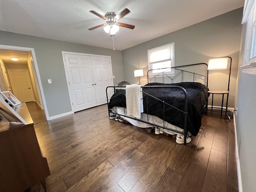
[{"label": "white towel draped over the black metal footboard", "polygon": [[141,86],[137,84],[126,86],[126,109],[128,116],[140,118],[143,113]]}]

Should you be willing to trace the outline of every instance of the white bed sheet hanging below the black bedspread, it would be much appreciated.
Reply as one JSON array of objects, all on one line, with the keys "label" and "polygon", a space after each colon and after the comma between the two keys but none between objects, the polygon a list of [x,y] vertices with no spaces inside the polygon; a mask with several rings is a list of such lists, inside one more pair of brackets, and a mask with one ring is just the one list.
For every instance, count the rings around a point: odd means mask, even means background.
[{"label": "white bed sheet hanging below the black bedspread", "polygon": [[[113,107],[112,112],[124,115],[124,107]],[[125,115],[127,116],[126,109],[125,109]],[[121,117],[124,120],[128,121],[130,124],[132,124],[136,127],[140,127],[140,128],[153,127],[153,125],[150,125],[150,124],[147,124],[147,123],[144,123],[144,122],[140,122],[140,121],[128,118],[128,117],[124,117],[124,116],[121,116]],[[145,114],[145,113],[141,113],[140,120],[148,121],[150,123],[153,123],[153,124],[156,124],[156,125],[159,125],[159,126],[165,126],[166,128],[170,128],[170,129],[173,129],[173,130],[184,132],[184,129],[182,129],[180,127],[177,127],[175,125],[172,125],[172,124],[170,124],[170,123],[168,123],[168,122],[166,122],[166,121],[164,121],[164,120],[162,120],[159,117],[154,116],[154,115],[148,115],[148,114]],[[171,134],[171,135],[177,134],[176,132],[170,131],[168,129],[162,129],[161,128],[161,130],[163,130],[164,132],[166,132],[168,134]],[[191,136],[192,134],[190,132],[188,132],[188,135]]]}]

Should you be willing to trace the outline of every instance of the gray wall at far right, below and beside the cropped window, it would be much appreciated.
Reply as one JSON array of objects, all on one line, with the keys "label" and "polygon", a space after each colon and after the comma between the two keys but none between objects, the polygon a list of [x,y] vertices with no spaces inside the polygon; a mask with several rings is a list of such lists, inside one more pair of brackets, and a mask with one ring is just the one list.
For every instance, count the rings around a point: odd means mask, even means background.
[{"label": "gray wall at far right, below and beside the cropped window", "polygon": [[[242,26],[239,66],[243,63],[246,24]],[[236,134],[243,192],[256,192],[256,76],[238,71]]]}]

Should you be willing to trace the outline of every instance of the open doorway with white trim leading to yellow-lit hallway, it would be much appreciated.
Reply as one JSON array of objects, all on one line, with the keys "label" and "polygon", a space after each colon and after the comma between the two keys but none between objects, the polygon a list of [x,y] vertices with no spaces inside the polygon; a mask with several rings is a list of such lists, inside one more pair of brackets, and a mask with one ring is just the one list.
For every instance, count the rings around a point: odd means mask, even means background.
[{"label": "open doorway with white trim leading to yellow-lit hallway", "polygon": [[[10,58],[19,58],[14,62]],[[33,110],[36,120],[49,120],[42,84],[33,48],[0,45],[1,90],[10,90]],[[37,117],[38,116],[38,117]]]}]

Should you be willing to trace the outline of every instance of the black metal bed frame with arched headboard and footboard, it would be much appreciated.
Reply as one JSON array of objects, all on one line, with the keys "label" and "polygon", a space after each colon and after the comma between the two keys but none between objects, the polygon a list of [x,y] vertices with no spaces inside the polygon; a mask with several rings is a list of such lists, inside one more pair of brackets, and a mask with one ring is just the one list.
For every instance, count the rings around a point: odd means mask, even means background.
[{"label": "black metal bed frame with arched headboard and footboard", "polygon": [[[195,75],[199,75],[199,76],[202,76],[202,77],[206,78],[206,86],[208,86],[208,70],[207,70],[207,76],[205,76],[205,75],[202,75],[202,74],[197,74],[197,73],[189,72],[189,71],[186,71],[186,70],[180,70],[180,69],[178,69],[178,68],[181,68],[181,67],[196,66],[196,65],[206,65],[206,68],[207,68],[207,66],[208,66],[206,63],[198,63],[198,64],[190,64],[190,65],[172,67],[172,68],[177,69],[178,71],[180,71],[180,72],[178,72],[178,74],[176,74],[173,78],[171,78],[170,76],[168,76],[165,72],[161,72],[160,74],[157,74],[156,76],[153,76],[153,77],[151,77],[151,78],[150,78],[149,75],[148,75],[148,82],[149,82],[149,80],[151,80],[152,78],[154,78],[154,79],[156,80],[156,77],[159,77],[159,76],[163,76],[163,78],[162,78],[162,79],[163,79],[163,82],[164,82],[164,77],[170,78],[170,79],[172,80],[172,82],[173,82],[173,80],[174,80],[175,78],[177,78],[178,76],[180,76],[180,75],[182,75],[182,82],[183,82],[183,74],[184,74],[184,72],[188,72],[188,73],[191,73],[191,74],[194,75],[194,81],[193,81],[193,82],[195,82]],[[165,69],[165,68],[164,68],[164,69]],[[170,70],[170,68],[166,68],[166,70]],[[151,71],[151,70],[148,70],[148,74],[149,74],[149,71]],[[142,87],[142,88],[149,88],[149,86],[141,86],[141,87]],[[118,113],[116,113],[116,112],[112,112],[112,110],[110,109],[110,103],[109,103],[109,100],[110,100],[110,99],[108,99],[108,98],[109,98],[109,97],[108,97],[108,89],[109,89],[109,88],[114,88],[114,89],[115,89],[115,88],[125,88],[125,86],[108,86],[108,87],[106,88],[106,96],[107,96],[107,103],[108,103],[108,116],[110,117],[110,113],[112,113],[112,114],[116,114],[116,115],[120,115],[120,116],[124,116],[124,117],[130,118],[130,119],[134,119],[134,120],[137,120],[137,121],[140,121],[140,122],[144,122],[144,123],[150,124],[150,125],[152,125],[152,126],[164,128],[164,129],[173,131],[173,132],[175,132],[175,133],[179,133],[179,134],[182,134],[182,135],[184,134],[184,145],[186,145],[186,138],[187,138],[187,134],[188,134],[188,130],[187,130],[187,115],[188,115],[188,106],[187,106],[187,105],[188,105],[188,94],[187,94],[186,90],[185,90],[183,87],[181,87],[181,86],[150,86],[150,88],[152,88],[152,87],[155,87],[155,88],[163,88],[163,87],[164,87],[164,88],[179,88],[180,90],[182,90],[183,93],[184,93],[184,110],[180,110],[180,109],[178,109],[178,108],[176,108],[176,107],[174,107],[174,106],[172,106],[172,105],[170,105],[170,104],[168,104],[168,103],[166,103],[166,102],[164,102],[164,101],[162,101],[162,100],[160,100],[160,99],[158,99],[158,98],[156,98],[156,97],[154,97],[154,96],[148,94],[147,92],[141,91],[142,93],[144,93],[144,97],[143,97],[143,98],[146,97],[146,101],[147,101],[147,102],[146,102],[147,121],[140,120],[140,119],[137,119],[137,118],[133,118],[133,117],[130,117],[130,116],[126,116],[126,115],[125,115],[125,111],[126,111],[126,108],[125,108],[125,107],[123,107],[123,108],[124,108],[124,114],[118,114]],[[118,95],[116,95],[116,96],[119,96],[120,94],[122,94],[123,97],[125,96],[125,92],[124,92],[124,91],[123,91],[123,92],[120,92],[120,93],[119,93]],[[112,97],[112,99],[114,99],[116,96]],[[184,124],[183,124],[184,132],[180,132],[180,131],[178,131],[178,130],[173,130],[173,129],[171,129],[171,128],[166,127],[166,126],[165,126],[165,120],[164,120],[164,119],[163,119],[163,121],[164,121],[163,126],[149,122],[149,121],[148,121],[148,119],[149,119],[149,118],[148,118],[148,97],[152,97],[152,98],[154,98],[154,99],[156,99],[156,100],[162,102],[163,116],[164,116],[164,106],[165,106],[165,104],[168,105],[168,106],[170,106],[170,107],[172,107],[172,108],[174,108],[174,109],[176,109],[176,110],[178,110],[178,111],[180,111],[180,112],[182,112],[183,115],[184,115]],[[142,99],[143,99],[143,98],[142,98]],[[206,102],[206,105],[207,105],[207,103],[208,103],[208,100],[207,100],[207,102]],[[145,112],[144,112],[144,113],[145,113]]]}]

